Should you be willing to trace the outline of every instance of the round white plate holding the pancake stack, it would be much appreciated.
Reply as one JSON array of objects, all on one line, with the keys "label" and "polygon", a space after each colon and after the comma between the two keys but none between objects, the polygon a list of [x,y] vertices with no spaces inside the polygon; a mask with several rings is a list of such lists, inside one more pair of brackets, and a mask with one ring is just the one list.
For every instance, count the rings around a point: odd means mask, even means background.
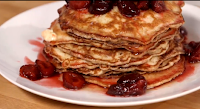
[{"label": "round white plate holding the pancake stack", "polygon": [[[65,2],[55,2],[40,6],[15,16],[0,28],[0,73],[7,80],[20,88],[40,96],[68,103],[91,106],[129,106],[155,103],[180,97],[200,89],[200,66],[197,65],[193,75],[182,82],[147,91],[139,97],[110,97],[104,93],[80,90],[68,91],[62,88],[50,88],[35,84],[25,78],[19,77],[19,68],[24,63],[24,57],[31,60],[37,58],[30,39],[37,39],[41,32],[50,26],[58,17],[57,9]],[[189,39],[200,39],[200,11],[199,8],[186,4],[183,15],[186,20],[185,27],[189,31]]]}]

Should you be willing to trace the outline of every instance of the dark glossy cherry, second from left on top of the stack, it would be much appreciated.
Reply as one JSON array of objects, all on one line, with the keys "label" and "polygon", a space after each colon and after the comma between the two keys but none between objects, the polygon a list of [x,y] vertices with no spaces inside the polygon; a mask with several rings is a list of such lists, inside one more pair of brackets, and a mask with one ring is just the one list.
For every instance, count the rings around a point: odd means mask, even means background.
[{"label": "dark glossy cherry, second from left on top of the stack", "polygon": [[96,0],[90,5],[88,11],[91,14],[101,15],[109,12],[111,9],[112,9],[111,1]]}]

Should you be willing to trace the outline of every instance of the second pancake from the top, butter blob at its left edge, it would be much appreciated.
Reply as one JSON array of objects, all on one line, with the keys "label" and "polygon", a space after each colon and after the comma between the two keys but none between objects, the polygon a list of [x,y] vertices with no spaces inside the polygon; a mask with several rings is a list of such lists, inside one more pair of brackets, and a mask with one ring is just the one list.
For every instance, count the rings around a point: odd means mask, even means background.
[{"label": "second pancake from the top, butter blob at its left edge", "polygon": [[72,33],[66,33],[66,31],[61,30],[60,25],[58,24],[58,20],[56,19],[52,23],[50,29],[47,29],[42,33],[42,36],[46,41],[49,41],[50,45],[73,43],[77,45],[95,46],[103,49],[125,48],[131,52],[137,53],[152,49],[163,40],[172,40],[175,34],[177,34],[177,31],[177,29],[169,29],[157,37],[158,41],[151,42],[147,45],[131,43],[128,41],[115,44],[110,41],[98,41],[95,39],[82,38]]}]

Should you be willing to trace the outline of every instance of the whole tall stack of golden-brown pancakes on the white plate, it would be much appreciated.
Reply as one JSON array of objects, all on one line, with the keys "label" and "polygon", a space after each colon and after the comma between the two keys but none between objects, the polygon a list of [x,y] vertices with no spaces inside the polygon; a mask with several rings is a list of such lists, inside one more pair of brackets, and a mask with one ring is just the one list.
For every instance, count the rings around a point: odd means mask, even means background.
[{"label": "whole tall stack of golden-brown pancakes on the white plate", "polygon": [[75,70],[86,81],[109,87],[94,78],[140,73],[147,88],[166,83],[184,71],[179,28],[183,2],[165,1],[166,11],[151,9],[128,18],[117,6],[103,15],[64,5],[59,18],[43,32],[44,52],[58,72]]}]

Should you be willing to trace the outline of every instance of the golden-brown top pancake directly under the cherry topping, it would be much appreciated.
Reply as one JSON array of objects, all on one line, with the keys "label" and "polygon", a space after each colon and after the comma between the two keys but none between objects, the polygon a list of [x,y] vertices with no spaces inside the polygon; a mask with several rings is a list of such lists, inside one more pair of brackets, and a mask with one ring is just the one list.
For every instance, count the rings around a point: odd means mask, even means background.
[{"label": "golden-brown top pancake directly under the cherry topping", "polygon": [[183,2],[165,1],[165,4],[167,10],[162,13],[149,9],[132,18],[121,15],[116,6],[106,14],[93,15],[87,9],[77,11],[65,5],[59,9],[59,24],[63,30],[84,38],[148,44],[157,35],[184,23],[181,15]]}]

